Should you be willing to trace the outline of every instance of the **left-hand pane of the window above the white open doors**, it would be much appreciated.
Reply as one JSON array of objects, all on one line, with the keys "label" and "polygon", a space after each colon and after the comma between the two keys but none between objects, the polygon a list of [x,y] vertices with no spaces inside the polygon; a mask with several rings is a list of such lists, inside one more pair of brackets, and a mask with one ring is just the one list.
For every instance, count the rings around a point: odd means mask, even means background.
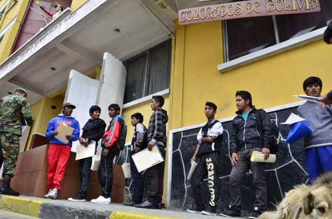
[{"label": "left-hand pane of the window above the white open doors", "polygon": [[128,103],[144,97],[144,76],[146,69],[146,53],[127,61],[125,78],[125,100]]}]

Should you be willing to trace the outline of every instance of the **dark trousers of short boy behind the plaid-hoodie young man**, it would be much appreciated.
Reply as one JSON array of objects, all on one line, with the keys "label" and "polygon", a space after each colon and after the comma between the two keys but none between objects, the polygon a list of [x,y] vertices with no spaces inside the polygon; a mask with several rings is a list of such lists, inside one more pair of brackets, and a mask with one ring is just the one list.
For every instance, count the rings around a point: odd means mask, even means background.
[{"label": "dark trousers of short boy behind the plaid-hoodie young man", "polygon": [[130,157],[130,174],[132,175],[132,202],[140,204],[143,200],[143,176],[137,171],[132,157]]}]

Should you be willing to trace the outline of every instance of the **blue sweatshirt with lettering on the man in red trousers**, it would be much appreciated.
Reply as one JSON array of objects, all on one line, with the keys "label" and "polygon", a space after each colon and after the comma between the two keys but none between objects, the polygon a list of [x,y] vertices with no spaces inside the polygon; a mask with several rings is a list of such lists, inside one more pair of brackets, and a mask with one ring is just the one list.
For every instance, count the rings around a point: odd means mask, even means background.
[{"label": "blue sweatshirt with lettering on the man in red trousers", "polygon": [[[59,127],[60,123],[64,123],[69,127],[74,128],[74,132],[73,134],[71,134],[72,141],[63,142],[53,135],[53,131],[57,130],[57,127]],[[52,120],[50,120],[50,122],[48,122],[45,135],[48,139],[50,139],[50,143],[71,146],[73,141],[77,141],[80,136],[80,125],[74,117],[65,117],[64,115],[59,114],[57,115],[57,117],[53,118]]]}]

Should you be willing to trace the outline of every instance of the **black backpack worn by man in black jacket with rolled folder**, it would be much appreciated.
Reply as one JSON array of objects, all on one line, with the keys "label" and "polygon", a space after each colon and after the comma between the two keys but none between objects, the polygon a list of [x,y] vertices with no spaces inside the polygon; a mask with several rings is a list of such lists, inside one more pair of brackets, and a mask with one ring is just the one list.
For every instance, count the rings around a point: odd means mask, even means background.
[{"label": "black backpack worn by man in black jacket with rolled folder", "polygon": [[[263,134],[263,124],[262,124],[262,118],[263,118],[263,109],[258,109],[256,111],[256,122],[258,125],[258,132],[261,135],[261,147],[263,147],[264,144],[264,134]],[[270,115],[268,115],[270,118]],[[271,121],[271,118],[270,118]],[[278,144],[278,136],[279,136],[279,127],[275,124],[275,122],[272,122],[272,132],[273,132],[273,140],[270,143],[270,153],[276,154],[278,152],[279,144]]]}]

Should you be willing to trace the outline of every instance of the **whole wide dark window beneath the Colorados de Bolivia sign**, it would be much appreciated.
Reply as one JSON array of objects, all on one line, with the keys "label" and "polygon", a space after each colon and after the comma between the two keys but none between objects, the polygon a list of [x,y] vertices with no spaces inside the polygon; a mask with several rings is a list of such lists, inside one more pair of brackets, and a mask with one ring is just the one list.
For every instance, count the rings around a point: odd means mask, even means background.
[{"label": "whole wide dark window beneath the Colorados de Bolivia sign", "polygon": [[287,41],[332,20],[332,1],[320,0],[321,11],[266,17],[249,17],[224,22],[226,62]]}]

